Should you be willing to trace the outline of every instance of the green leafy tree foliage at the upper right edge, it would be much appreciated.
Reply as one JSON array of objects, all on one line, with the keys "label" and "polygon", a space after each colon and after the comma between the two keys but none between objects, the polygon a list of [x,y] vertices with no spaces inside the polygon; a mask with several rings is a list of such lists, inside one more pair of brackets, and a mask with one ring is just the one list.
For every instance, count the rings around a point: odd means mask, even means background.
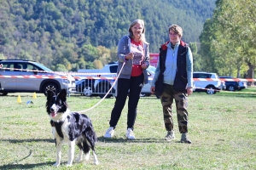
[{"label": "green leafy tree foliage at the upper right edge", "polygon": [[256,68],[255,2],[218,0],[216,4],[213,17],[206,21],[200,36],[203,68],[219,75],[253,78]]}]

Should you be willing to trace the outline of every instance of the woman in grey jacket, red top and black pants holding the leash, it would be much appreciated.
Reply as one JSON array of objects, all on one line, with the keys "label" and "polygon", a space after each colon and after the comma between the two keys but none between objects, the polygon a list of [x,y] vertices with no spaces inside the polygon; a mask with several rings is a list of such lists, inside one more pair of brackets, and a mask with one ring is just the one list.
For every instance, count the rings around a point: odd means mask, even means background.
[{"label": "woman in grey jacket, red top and black pants holding the leash", "polygon": [[120,75],[117,82],[116,100],[109,122],[110,127],[104,138],[113,137],[114,129],[119,122],[129,94],[126,138],[135,139],[133,129],[137,116],[137,103],[143,85],[148,83],[146,69],[149,65],[149,49],[145,39],[144,21],[134,20],[128,31],[129,35],[122,37],[118,44],[119,66],[117,74],[120,72]]}]

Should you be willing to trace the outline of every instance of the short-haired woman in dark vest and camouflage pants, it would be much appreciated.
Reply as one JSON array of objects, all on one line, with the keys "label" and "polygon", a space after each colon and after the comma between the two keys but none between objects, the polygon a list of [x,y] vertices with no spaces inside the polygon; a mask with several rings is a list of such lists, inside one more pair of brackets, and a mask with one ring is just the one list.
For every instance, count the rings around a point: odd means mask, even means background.
[{"label": "short-haired woman in dark vest and camouflage pants", "polygon": [[[178,130],[181,142],[191,144],[188,138],[189,113],[187,96],[193,93],[193,59],[190,48],[181,40],[183,29],[169,27],[170,41],[160,48],[160,57],[151,82],[151,93],[160,95],[166,126],[167,141],[175,139],[172,120],[172,103],[175,99]],[[158,81],[158,82],[157,82]]]}]

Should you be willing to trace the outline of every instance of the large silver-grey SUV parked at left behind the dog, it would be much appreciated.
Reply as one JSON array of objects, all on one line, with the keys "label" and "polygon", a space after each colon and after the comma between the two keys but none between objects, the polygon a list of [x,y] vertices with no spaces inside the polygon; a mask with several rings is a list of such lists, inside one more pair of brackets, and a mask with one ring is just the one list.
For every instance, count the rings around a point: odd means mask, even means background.
[{"label": "large silver-grey SUV parked at left behind the dog", "polygon": [[57,94],[62,88],[68,92],[75,88],[73,77],[55,73],[32,60],[0,59],[0,65],[0,95],[16,92],[46,95],[48,90]]}]

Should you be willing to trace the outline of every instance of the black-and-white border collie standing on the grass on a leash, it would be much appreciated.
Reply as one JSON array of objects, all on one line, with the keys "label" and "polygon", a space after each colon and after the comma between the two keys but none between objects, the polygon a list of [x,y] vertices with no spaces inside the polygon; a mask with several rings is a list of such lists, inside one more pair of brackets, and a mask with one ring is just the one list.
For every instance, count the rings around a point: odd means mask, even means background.
[{"label": "black-and-white border collie standing on the grass on a leash", "polygon": [[97,137],[90,118],[84,114],[69,111],[66,96],[66,89],[62,89],[58,95],[52,91],[47,93],[46,110],[49,114],[57,152],[54,166],[57,167],[61,163],[61,143],[69,145],[67,167],[72,166],[75,144],[80,150],[77,161],[82,161],[83,152],[85,159],[89,160],[91,149],[94,163],[97,165],[99,163],[95,152]]}]

